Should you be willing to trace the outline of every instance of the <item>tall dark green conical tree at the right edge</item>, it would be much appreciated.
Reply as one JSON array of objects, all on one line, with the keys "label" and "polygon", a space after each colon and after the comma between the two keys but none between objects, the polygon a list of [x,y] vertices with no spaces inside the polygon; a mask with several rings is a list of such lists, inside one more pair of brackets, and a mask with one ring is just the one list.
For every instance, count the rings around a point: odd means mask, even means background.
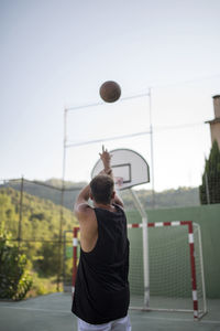
[{"label": "tall dark green conical tree at the right edge", "polygon": [[199,186],[201,204],[220,203],[220,150],[215,140],[210,150],[209,159],[205,160],[202,184]]}]

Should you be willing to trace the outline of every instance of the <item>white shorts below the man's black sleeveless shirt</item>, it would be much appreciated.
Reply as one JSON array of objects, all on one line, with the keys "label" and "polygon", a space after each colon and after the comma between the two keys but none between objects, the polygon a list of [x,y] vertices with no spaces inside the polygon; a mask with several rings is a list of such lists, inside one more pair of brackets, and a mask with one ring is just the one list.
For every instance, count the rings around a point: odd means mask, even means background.
[{"label": "white shorts below the man's black sleeveless shirt", "polygon": [[105,324],[89,324],[78,318],[78,331],[131,331],[129,316]]}]

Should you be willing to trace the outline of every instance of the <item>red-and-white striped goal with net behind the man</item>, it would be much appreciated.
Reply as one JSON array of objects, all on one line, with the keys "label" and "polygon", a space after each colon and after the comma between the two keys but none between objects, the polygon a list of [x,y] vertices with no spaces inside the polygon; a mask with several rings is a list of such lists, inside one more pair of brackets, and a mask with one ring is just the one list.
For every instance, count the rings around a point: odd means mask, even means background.
[{"label": "red-and-white striped goal with net behind the man", "polygon": [[[130,309],[207,312],[200,227],[191,221],[148,223],[150,300],[145,298],[143,223],[128,224]],[[73,238],[73,293],[79,258],[79,227]]]}]

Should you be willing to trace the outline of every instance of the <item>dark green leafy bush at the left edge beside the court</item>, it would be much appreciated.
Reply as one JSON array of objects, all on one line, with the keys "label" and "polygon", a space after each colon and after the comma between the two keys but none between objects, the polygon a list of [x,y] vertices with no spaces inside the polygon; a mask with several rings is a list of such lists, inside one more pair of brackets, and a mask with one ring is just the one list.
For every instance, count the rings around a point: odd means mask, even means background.
[{"label": "dark green leafy bush at the left edge beside the court", "polygon": [[22,300],[31,289],[32,278],[25,270],[26,256],[10,242],[11,235],[0,226],[0,298]]}]

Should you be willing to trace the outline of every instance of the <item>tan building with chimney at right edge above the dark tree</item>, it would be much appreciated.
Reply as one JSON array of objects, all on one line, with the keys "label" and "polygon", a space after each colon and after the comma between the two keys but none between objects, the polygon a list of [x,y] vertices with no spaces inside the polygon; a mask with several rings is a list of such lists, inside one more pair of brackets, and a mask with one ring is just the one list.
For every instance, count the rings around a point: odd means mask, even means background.
[{"label": "tan building with chimney at right edge above the dark tree", "polygon": [[211,143],[217,140],[220,149],[220,95],[215,95],[212,98],[215,118],[212,120],[207,120],[206,122],[209,122],[210,125]]}]

